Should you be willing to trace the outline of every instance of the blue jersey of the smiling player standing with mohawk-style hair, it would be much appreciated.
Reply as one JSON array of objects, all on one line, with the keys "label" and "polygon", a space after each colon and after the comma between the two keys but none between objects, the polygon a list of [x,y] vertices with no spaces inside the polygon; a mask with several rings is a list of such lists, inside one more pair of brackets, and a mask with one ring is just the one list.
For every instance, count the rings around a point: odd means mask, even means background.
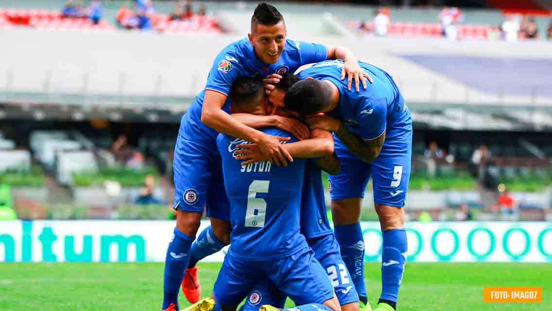
[{"label": "blue jersey of the smiling player standing with mohawk-style hair", "polygon": [[[327,49],[321,44],[297,42],[287,39],[284,50],[274,64],[265,64],[258,60],[253,46],[247,38],[231,43],[216,56],[207,77],[205,90],[228,95],[232,82],[242,76],[266,77],[270,74],[283,75],[295,72],[300,66],[327,58]],[[201,123],[201,108],[205,90],[196,97],[192,106],[182,117],[179,133],[185,138],[195,140],[212,140],[217,132]],[[230,111],[230,101],[227,99],[222,110]]]}]

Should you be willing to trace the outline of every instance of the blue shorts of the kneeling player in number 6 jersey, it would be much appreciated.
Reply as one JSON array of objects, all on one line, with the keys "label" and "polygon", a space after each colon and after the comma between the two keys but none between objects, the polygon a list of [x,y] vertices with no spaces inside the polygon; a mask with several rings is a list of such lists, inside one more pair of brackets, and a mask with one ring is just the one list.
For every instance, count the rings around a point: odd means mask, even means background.
[{"label": "blue shorts of the kneeling player in number 6 jersey", "polygon": [[[259,281],[266,279],[298,305],[323,303],[333,297],[326,271],[308,247],[291,256],[270,261],[242,260],[229,252],[215,281],[213,294],[221,305],[236,307]],[[262,297],[253,296],[253,302],[256,300],[260,302]],[[260,304],[256,305],[258,310]]]}]

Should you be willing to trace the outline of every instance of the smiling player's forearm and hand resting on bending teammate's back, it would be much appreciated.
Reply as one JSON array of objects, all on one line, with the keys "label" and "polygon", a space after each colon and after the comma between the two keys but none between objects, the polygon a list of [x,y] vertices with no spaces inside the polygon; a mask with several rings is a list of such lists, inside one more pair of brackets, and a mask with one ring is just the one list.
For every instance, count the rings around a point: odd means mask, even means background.
[{"label": "smiling player's forearm and hand resting on bending teammate's back", "polygon": [[368,79],[370,83],[373,82],[370,75],[360,68],[357,56],[355,56],[351,50],[344,48],[343,46],[327,46],[327,49],[327,59],[342,59],[345,61],[345,65],[341,70],[341,80],[345,79],[345,76],[347,76],[347,87],[349,91],[351,90],[353,80],[355,90],[357,90],[357,92],[360,91],[360,82],[362,82],[364,89],[367,87],[366,79]]}]

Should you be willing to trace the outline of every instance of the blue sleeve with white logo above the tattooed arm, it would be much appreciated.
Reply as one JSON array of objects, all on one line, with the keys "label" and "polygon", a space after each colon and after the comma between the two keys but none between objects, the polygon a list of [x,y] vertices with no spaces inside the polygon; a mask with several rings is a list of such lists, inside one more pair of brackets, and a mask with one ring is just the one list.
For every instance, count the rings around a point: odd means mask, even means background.
[{"label": "blue sleeve with white logo above the tattooed arm", "polygon": [[358,125],[360,136],[365,141],[378,138],[387,126],[387,101],[380,99],[365,99],[362,110],[359,111]]}]

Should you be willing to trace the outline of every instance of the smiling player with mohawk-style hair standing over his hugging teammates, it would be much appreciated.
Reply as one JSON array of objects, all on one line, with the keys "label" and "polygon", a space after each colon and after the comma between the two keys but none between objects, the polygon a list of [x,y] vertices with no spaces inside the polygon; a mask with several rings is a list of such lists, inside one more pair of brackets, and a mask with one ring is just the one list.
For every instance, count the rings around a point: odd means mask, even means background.
[{"label": "smiling player with mohawk-style hair standing over his hugging teammates", "polygon": [[[173,208],[178,211],[178,216],[165,259],[162,309],[178,310],[181,282],[188,285],[183,288],[187,298],[197,301],[200,294],[197,268],[190,266],[183,280],[190,257],[197,262],[229,243],[229,202],[222,186],[221,160],[215,143],[217,132],[256,143],[268,155],[269,162],[275,165],[286,165],[288,160],[293,160],[280,144],[288,137],[263,133],[230,117],[227,113],[230,101],[226,97],[232,81],[241,76],[266,78],[264,82],[269,91],[268,84],[278,80],[278,76],[273,74],[294,72],[301,65],[334,58],[344,59],[343,78],[348,77],[349,86],[354,80],[357,90],[360,82],[365,87],[365,78],[370,77],[360,69],[350,51],[286,39],[282,15],[267,3],[261,3],[255,9],[248,39],[231,43],[216,56],[205,90],[195,97],[182,117],[174,149]],[[292,133],[304,132],[296,123],[284,122],[277,126]],[[210,231],[201,232],[198,243],[192,247],[204,206],[211,219]],[[199,243],[205,239],[213,243]]]}]

